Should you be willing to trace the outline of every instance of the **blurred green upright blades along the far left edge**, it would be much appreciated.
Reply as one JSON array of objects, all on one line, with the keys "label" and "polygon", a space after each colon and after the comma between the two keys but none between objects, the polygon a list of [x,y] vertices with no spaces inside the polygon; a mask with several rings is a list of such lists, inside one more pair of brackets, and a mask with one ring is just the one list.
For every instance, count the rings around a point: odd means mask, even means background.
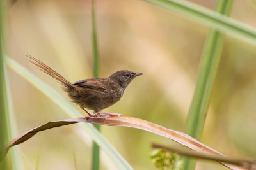
[{"label": "blurred green upright blades along the far left edge", "polygon": [[[15,117],[11,107],[10,86],[4,66],[4,51],[6,50],[7,1],[0,2],[0,150],[15,134]],[[2,154],[2,152],[0,153]],[[0,155],[2,157],[3,155]],[[6,159],[0,162],[0,169],[24,169],[20,159],[19,147],[10,151]]]}]

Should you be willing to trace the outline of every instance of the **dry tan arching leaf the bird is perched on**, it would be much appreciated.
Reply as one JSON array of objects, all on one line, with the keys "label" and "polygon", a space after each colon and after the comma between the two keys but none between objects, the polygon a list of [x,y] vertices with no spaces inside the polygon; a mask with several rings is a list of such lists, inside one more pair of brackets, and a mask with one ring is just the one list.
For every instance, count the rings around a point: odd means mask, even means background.
[{"label": "dry tan arching leaf the bird is perched on", "polygon": [[[17,138],[10,141],[6,145],[6,152],[8,152],[8,150],[12,146],[18,145],[28,140],[29,138],[34,136],[37,132],[45,131],[47,129],[51,129],[54,127],[60,127],[63,125],[76,124],[79,122],[86,122],[86,123],[100,124],[100,125],[110,125],[110,126],[133,127],[137,129],[142,129],[142,130],[153,132],[160,136],[164,136],[166,138],[172,139],[173,141],[176,141],[181,145],[187,146],[188,148],[191,148],[196,152],[213,153],[213,154],[223,156],[223,154],[221,154],[220,152],[217,152],[216,150],[204,145],[203,143],[200,143],[196,139],[191,138],[191,136],[188,136],[187,134],[184,134],[182,132],[173,131],[161,125],[153,124],[151,122],[142,120],[140,118],[125,117],[125,116],[106,118],[105,115],[99,115],[99,117],[91,117],[87,119],[86,117],[79,117],[79,118],[70,118],[66,120],[48,122],[47,124],[35,127],[34,129],[24,132],[23,134],[20,134],[20,136],[18,136]],[[220,163],[223,164],[224,166],[227,166],[230,169],[244,169],[243,167],[234,166],[232,164],[227,164],[225,162],[220,162]]]}]

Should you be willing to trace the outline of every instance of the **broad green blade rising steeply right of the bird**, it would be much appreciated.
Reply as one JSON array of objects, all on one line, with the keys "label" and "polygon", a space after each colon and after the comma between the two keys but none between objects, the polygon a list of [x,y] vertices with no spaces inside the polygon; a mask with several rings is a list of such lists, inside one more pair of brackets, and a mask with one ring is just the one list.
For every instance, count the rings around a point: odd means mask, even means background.
[{"label": "broad green blade rising steeply right of the bird", "polygon": [[[230,15],[233,0],[218,0],[216,11],[223,15]],[[200,139],[207,108],[209,106],[212,85],[218,71],[221,57],[224,34],[211,29],[205,41],[204,51],[200,60],[198,78],[189,114],[186,122],[185,132],[190,136]],[[185,159],[184,169],[194,169],[195,160]]]}]

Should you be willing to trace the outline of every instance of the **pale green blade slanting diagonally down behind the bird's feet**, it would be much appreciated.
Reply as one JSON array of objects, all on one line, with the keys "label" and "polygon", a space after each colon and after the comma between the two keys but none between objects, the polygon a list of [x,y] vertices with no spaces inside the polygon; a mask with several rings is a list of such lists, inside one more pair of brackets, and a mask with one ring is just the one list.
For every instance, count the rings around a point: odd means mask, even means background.
[{"label": "pale green blade slanting diagonally down behind the bird's feet", "polygon": [[[24,58],[25,59],[25,58]],[[83,117],[79,111],[71,106],[70,103],[65,101],[63,97],[58,94],[54,89],[47,85],[44,81],[37,78],[34,74],[28,71],[25,67],[21,66],[19,63],[10,59],[10,57],[4,57],[4,62],[11,67],[16,73],[22,76],[24,79],[29,81],[38,90],[43,92],[47,97],[49,97],[54,103],[56,103],[60,108],[64,110],[63,113],[67,113],[70,117]],[[118,153],[113,146],[93,127],[91,124],[80,124],[84,131],[86,131],[93,140],[113,159],[120,169],[132,169],[128,162]]]}]

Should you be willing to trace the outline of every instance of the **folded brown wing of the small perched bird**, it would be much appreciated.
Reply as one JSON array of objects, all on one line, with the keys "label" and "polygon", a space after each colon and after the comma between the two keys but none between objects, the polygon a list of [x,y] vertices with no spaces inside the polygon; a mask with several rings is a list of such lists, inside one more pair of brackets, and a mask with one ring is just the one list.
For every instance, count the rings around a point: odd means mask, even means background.
[{"label": "folded brown wing of the small perched bird", "polygon": [[76,81],[74,85],[88,89],[99,90],[102,92],[109,92],[109,79],[108,78],[89,78],[85,80]]}]

